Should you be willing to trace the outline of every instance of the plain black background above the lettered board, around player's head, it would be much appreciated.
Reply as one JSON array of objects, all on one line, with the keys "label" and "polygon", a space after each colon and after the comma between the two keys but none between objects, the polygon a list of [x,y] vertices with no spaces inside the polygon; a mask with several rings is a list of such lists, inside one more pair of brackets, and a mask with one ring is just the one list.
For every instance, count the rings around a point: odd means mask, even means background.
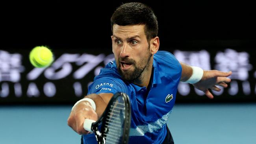
[{"label": "plain black background above the lettered board, around player's head", "polygon": [[[123,2],[37,1],[1,4],[4,46],[49,44],[106,47],[110,17]],[[154,9],[161,46],[186,40],[255,40],[255,14],[247,2],[140,1]],[[98,45],[99,46],[99,45]],[[99,46],[99,47],[100,47]]]}]

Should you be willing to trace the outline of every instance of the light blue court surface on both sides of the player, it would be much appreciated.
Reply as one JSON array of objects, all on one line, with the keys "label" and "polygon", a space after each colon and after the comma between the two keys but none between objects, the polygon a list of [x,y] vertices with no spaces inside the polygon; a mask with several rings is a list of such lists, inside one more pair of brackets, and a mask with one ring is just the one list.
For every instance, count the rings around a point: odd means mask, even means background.
[{"label": "light blue court surface on both sides of the player", "polygon": [[[0,106],[0,144],[80,144],[71,107]],[[175,144],[256,144],[256,103],[176,104],[167,124]]]}]

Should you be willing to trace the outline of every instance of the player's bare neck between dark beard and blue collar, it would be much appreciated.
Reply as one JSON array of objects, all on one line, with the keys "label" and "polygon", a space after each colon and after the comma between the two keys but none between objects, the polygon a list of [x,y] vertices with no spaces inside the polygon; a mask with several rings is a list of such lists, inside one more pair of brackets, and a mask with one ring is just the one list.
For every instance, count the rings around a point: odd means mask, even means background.
[{"label": "player's bare neck between dark beard and blue collar", "polygon": [[147,88],[150,82],[150,77],[152,75],[152,67],[153,67],[153,57],[148,62],[148,64],[145,67],[145,70],[141,73],[139,78],[135,79],[132,83],[140,87]]}]

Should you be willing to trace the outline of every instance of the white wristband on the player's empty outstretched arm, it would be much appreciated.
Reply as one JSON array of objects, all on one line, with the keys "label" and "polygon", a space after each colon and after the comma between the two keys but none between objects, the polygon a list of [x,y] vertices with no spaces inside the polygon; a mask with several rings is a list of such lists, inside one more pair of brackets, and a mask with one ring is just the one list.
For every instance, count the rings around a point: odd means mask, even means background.
[{"label": "white wristband on the player's empty outstretched arm", "polygon": [[192,75],[187,81],[184,81],[184,83],[197,83],[204,75],[204,70],[202,68],[197,66],[191,66],[191,68],[193,70]]}]

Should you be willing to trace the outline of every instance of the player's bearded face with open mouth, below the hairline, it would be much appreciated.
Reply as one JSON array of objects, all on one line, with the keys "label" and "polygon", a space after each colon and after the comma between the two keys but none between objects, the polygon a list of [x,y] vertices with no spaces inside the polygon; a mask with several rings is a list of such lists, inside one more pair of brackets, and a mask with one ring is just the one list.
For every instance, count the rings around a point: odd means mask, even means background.
[{"label": "player's bearded face with open mouth, below the hairline", "polygon": [[144,32],[144,25],[113,25],[112,50],[117,69],[123,79],[134,81],[148,70],[150,45]]}]

